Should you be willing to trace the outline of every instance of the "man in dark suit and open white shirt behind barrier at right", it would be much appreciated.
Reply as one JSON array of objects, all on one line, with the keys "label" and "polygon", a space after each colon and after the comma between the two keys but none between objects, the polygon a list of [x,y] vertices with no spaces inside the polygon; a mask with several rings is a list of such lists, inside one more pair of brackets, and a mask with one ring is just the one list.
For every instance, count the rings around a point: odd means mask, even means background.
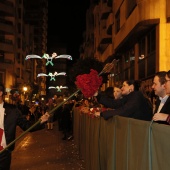
[{"label": "man in dark suit and open white shirt behind barrier at right", "polygon": [[[166,94],[165,76],[166,76],[165,71],[157,72],[153,79],[153,85],[152,85],[155,95],[157,95],[157,98],[155,101],[153,120],[161,124],[168,124],[165,121],[167,117],[166,113],[170,113],[170,97],[169,95]],[[165,117],[164,121],[162,119],[161,119],[162,121],[160,120],[160,116]]]}]

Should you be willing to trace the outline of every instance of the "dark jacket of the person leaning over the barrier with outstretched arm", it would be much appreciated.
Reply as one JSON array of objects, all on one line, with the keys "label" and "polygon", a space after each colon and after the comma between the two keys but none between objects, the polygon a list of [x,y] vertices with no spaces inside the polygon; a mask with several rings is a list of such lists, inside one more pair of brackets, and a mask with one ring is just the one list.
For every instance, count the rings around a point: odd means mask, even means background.
[{"label": "dark jacket of the person leaning over the barrier with outstretched arm", "polygon": [[115,115],[147,121],[152,119],[152,105],[140,91],[131,92],[129,95],[124,96],[123,98],[124,104],[122,107],[119,107],[115,110],[101,112],[100,115],[106,120]]}]

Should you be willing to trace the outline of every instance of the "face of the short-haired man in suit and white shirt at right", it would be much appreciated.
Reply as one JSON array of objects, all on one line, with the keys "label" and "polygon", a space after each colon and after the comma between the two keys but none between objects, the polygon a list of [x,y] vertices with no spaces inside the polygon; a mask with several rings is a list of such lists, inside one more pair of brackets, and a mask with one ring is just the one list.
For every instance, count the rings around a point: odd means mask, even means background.
[{"label": "face of the short-haired man in suit and white shirt at right", "polygon": [[152,89],[154,90],[155,95],[159,97],[164,97],[166,94],[165,84],[160,83],[158,76],[155,76],[153,79]]}]

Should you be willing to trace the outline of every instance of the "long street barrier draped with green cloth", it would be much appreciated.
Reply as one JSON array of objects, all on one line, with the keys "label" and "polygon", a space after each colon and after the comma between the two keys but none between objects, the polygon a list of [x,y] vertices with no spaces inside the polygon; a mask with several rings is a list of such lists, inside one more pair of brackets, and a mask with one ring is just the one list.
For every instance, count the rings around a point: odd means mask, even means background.
[{"label": "long street barrier draped with green cloth", "polygon": [[106,121],[78,108],[74,121],[75,142],[86,170],[170,169],[170,126],[121,116]]}]

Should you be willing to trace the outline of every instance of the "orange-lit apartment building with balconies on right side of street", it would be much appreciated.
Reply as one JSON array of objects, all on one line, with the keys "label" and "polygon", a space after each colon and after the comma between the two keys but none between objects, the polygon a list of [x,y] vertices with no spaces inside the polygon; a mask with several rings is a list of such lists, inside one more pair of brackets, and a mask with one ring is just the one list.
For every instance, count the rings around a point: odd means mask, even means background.
[{"label": "orange-lit apartment building with balconies on right side of street", "polygon": [[[115,59],[106,86],[125,79],[139,79],[150,86],[155,72],[170,69],[168,0],[92,0],[91,8],[87,16],[94,19],[93,56],[103,62]],[[88,32],[84,54],[89,49]]]}]

